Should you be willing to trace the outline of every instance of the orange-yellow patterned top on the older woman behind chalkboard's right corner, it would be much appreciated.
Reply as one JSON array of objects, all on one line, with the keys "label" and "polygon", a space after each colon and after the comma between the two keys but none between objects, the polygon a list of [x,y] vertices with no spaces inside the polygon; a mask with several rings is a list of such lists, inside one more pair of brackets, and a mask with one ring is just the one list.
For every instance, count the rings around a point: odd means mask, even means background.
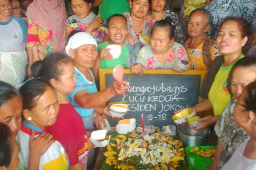
[{"label": "orange-yellow patterned top on the older woman behind chalkboard's right corner", "polygon": [[[204,43],[204,42],[203,42]],[[186,48],[188,61],[190,61],[190,68],[193,70],[204,70],[208,71],[208,67],[203,63],[202,49],[203,43],[200,44],[196,49]],[[212,61],[216,56],[221,55],[216,45],[211,47],[211,58]]]}]

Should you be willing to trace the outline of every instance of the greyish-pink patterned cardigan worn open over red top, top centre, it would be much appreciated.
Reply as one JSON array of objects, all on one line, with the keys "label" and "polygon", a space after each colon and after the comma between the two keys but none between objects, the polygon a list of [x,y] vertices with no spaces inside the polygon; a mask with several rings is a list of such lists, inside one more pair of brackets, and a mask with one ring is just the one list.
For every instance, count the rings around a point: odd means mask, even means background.
[{"label": "greyish-pink patterned cardigan worn open over red top, top centre", "polygon": [[[129,33],[128,34],[131,34],[132,36],[136,37],[136,33],[134,31],[134,27],[133,27],[133,23],[132,23],[132,19],[131,19],[131,13],[130,12],[125,12],[123,14],[126,19],[127,19],[127,27],[128,27],[128,30],[129,30]],[[154,25],[154,20],[150,20],[150,21],[144,21],[144,27],[143,27],[143,30],[142,30],[142,34],[145,34],[146,36],[151,36],[151,31],[153,29],[153,25]]]}]

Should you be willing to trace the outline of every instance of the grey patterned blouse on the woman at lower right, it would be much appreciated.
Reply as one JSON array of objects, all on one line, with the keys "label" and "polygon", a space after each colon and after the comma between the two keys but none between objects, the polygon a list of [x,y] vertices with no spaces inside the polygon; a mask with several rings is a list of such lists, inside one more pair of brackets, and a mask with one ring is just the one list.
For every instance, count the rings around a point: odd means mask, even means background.
[{"label": "grey patterned blouse on the woman at lower right", "polygon": [[241,143],[248,138],[247,133],[234,120],[234,106],[234,98],[231,98],[214,126],[214,131],[223,147],[218,161],[218,169],[228,162]]}]

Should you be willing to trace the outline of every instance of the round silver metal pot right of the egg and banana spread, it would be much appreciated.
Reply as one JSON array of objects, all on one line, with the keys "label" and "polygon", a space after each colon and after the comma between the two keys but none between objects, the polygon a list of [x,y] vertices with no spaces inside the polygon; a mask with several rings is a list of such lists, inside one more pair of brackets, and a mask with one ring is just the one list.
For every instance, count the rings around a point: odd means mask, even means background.
[{"label": "round silver metal pot right of the egg and banana spread", "polygon": [[209,128],[196,131],[190,129],[189,125],[179,125],[177,129],[179,132],[179,139],[182,141],[184,147],[203,146],[205,145],[207,135],[210,134]]}]

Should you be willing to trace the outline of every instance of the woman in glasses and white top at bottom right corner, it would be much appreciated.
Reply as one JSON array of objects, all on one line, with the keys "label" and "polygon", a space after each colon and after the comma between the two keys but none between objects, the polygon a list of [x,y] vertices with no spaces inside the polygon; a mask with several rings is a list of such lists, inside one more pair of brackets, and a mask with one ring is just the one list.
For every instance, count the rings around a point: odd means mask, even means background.
[{"label": "woman in glasses and white top at bottom right corner", "polygon": [[222,170],[256,169],[256,82],[247,85],[234,106],[234,119],[249,136]]}]

